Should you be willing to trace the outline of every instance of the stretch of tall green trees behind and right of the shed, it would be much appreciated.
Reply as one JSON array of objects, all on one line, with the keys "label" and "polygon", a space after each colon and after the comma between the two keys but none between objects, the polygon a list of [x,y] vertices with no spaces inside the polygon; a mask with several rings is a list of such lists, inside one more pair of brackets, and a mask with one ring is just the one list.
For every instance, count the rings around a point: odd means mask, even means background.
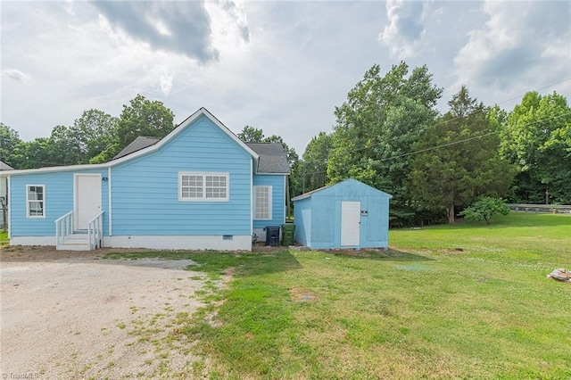
[{"label": "stretch of tall green trees behind and right of the shed", "polygon": [[553,92],[529,92],[511,112],[461,87],[441,114],[443,89],[426,66],[385,75],[374,65],[335,108],[330,134],[302,155],[310,191],[355,178],[386,193],[392,226],[448,221],[485,197],[571,203],[571,108]]}]

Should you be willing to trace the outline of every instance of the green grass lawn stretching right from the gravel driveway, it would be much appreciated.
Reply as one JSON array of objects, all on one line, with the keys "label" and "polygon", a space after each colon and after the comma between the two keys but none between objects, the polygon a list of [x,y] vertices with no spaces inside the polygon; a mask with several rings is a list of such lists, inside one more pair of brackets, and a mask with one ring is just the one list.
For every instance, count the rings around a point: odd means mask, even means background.
[{"label": "green grass lawn stretching right from the gravel driveway", "polygon": [[203,358],[196,375],[571,378],[571,285],[545,278],[571,267],[571,217],[392,230],[390,244],[169,253],[203,263],[213,280],[234,272],[179,321]]}]

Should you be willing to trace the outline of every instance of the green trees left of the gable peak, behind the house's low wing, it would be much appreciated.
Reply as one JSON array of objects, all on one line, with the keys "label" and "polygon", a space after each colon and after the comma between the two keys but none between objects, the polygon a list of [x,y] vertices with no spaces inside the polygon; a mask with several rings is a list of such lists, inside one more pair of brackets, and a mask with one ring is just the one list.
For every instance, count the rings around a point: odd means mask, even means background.
[{"label": "green trees left of the gable peak, behind the house's low wing", "polygon": [[137,95],[119,117],[88,110],[71,126],[56,126],[49,137],[33,141],[22,141],[15,129],[0,123],[0,160],[15,169],[102,163],[137,136],[167,136],[175,128],[173,120],[163,103]]}]

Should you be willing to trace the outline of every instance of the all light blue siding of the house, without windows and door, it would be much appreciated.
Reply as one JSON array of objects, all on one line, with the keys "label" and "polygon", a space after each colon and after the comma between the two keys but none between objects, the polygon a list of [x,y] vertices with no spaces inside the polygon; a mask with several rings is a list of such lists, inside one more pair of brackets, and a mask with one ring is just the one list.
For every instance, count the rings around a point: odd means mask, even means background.
[{"label": "all light blue siding of the house, without windows and door", "polygon": [[[73,211],[74,174],[108,179],[101,181],[103,235],[107,236],[242,235],[249,243],[254,225],[283,224],[285,176],[254,175],[252,151],[208,113],[195,115],[191,124],[183,123],[153,148],[117,161],[88,169],[70,166],[12,175],[11,235],[54,236],[54,220]],[[228,201],[179,201],[181,172],[228,175]],[[26,217],[26,185],[46,186],[46,218]],[[272,186],[271,220],[252,221],[252,185]]]}]

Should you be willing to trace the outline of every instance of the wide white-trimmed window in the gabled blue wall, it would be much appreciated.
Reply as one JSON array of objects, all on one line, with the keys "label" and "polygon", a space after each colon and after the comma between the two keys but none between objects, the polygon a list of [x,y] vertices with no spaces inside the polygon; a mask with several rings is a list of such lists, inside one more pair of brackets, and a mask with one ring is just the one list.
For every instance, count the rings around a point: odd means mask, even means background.
[{"label": "wide white-trimmed window in the gabled blue wall", "polygon": [[186,202],[228,202],[228,173],[179,172],[178,200]]}]

